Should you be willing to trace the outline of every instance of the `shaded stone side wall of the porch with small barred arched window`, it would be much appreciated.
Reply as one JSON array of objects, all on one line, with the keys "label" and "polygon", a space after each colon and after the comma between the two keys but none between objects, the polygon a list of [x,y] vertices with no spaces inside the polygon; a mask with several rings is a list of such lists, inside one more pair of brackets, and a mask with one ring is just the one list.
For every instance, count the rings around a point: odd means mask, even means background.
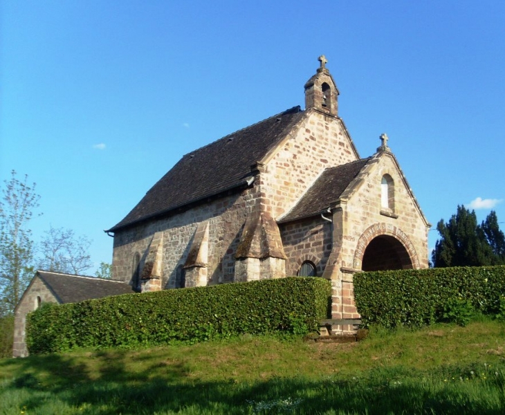
[{"label": "shaded stone side wall of the porch with small barred arched window", "polygon": [[321,276],[331,252],[331,223],[313,217],[280,225],[286,257],[286,275],[297,275],[304,261],[311,261]]}]

